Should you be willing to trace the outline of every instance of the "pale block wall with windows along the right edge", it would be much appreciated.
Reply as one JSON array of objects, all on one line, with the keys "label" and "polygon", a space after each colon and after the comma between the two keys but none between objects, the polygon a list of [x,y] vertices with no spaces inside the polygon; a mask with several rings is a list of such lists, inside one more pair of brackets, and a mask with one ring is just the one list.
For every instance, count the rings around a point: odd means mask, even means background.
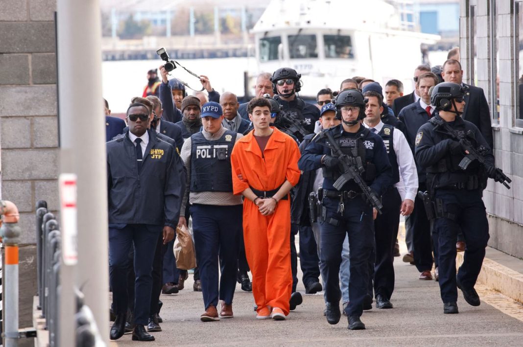
[{"label": "pale block wall with windows along the right edge", "polygon": [[[515,126],[517,72],[515,71],[518,49],[514,44],[515,28],[513,0],[496,0],[497,8],[491,8],[491,0],[461,0],[460,51],[465,80],[473,81],[470,44],[473,33],[468,26],[467,5],[476,6],[476,69],[477,83],[485,91],[487,100],[495,105],[491,88],[496,74],[499,75],[499,121],[494,120],[494,155],[496,166],[501,168],[513,182],[507,190],[499,183],[489,180],[484,192],[484,202],[489,213],[491,239],[489,246],[519,258],[523,258],[523,129]],[[491,16],[496,13],[494,21]],[[491,25],[497,30],[490,30]],[[497,33],[496,33],[497,31]],[[493,33],[491,33],[493,32]],[[497,47],[492,43],[497,36]],[[496,58],[497,54],[497,58]],[[492,63],[492,64],[491,64]],[[495,94],[495,93],[494,93]]]}]

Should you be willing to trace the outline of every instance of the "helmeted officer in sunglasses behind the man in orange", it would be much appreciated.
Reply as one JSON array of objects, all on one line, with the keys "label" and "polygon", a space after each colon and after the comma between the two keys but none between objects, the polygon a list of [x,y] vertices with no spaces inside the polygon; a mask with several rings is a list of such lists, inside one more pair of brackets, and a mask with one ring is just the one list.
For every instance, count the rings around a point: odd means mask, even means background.
[{"label": "helmeted officer in sunglasses behind the man in orange", "polygon": [[[320,118],[320,110],[314,105],[300,99],[296,94],[301,89],[301,74],[290,67],[282,67],[276,70],[270,80],[274,99],[281,105],[281,112],[288,115],[290,119],[302,121],[306,132],[314,132],[314,123]],[[276,95],[277,94],[277,95]],[[300,133],[294,133],[299,141],[303,140]]]}]

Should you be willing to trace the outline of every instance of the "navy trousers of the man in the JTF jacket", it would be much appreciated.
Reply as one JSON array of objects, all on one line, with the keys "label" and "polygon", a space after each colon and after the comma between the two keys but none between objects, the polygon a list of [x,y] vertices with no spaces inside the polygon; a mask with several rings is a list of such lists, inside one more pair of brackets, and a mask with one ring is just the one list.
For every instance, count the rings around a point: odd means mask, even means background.
[{"label": "navy trousers of the man in the JTF jacket", "polygon": [[119,227],[109,226],[109,280],[113,308],[117,315],[127,313],[129,251],[134,246],[134,323],[147,325],[153,286],[153,260],[163,226],[128,224]]}]

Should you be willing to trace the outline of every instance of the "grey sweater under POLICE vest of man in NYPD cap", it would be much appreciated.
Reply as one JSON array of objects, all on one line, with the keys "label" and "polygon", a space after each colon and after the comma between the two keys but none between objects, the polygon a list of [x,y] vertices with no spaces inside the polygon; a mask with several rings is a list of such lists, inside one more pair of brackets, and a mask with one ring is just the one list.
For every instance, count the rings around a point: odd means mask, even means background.
[{"label": "grey sweater under POLICE vest of man in NYPD cap", "polygon": [[[222,125],[222,128],[215,134],[209,134],[202,129],[202,134],[207,140],[218,140],[222,137],[226,131]],[[236,135],[236,142],[242,138],[242,134]],[[191,204],[203,204],[203,205],[218,205],[218,206],[232,206],[243,204],[242,195],[233,195],[232,192],[191,192],[191,145],[192,141],[189,138],[184,141],[183,147],[181,147],[180,157],[184,161],[184,165],[187,168],[187,185],[185,189],[184,199],[181,203],[180,216],[185,215],[185,208],[187,206],[187,199]],[[229,154],[231,155],[231,154]]]}]

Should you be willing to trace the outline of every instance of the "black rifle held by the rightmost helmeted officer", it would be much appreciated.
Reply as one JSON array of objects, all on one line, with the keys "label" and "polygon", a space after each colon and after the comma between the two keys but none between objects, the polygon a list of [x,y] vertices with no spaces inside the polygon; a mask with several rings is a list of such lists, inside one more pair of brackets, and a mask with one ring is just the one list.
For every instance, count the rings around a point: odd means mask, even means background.
[{"label": "black rifle held by the rightmost helmeted officer", "polygon": [[[510,189],[510,186],[507,184],[507,182],[510,183],[510,182],[512,182],[512,180],[510,178],[508,178],[507,175],[505,175],[505,173],[503,173],[503,171],[501,169],[495,167],[494,165],[492,165],[490,163],[487,163],[487,161],[485,160],[485,154],[487,153],[487,149],[485,148],[485,146],[482,145],[482,146],[479,146],[478,148],[475,148],[472,145],[472,143],[469,140],[467,140],[466,137],[462,138],[461,136],[459,136],[458,132],[456,130],[452,129],[452,126],[450,126],[444,120],[439,120],[439,119],[433,118],[430,120],[430,122],[435,123],[435,127],[434,127],[435,130],[438,127],[442,128],[450,136],[452,136],[453,138],[455,138],[456,140],[459,141],[461,148],[463,148],[464,151],[469,152],[469,154],[466,154],[463,157],[463,159],[461,160],[461,162],[459,163],[459,167],[462,170],[466,170],[469,167],[470,163],[472,163],[472,161],[477,160],[477,161],[479,161],[479,163],[481,165],[483,165],[485,167],[485,169],[487,169],[487,172],[494,169],[494,177],[493,177],[494,181],[502,183],[503,186],[505,186],[507,189]],[[469,132],[471,132],[471,130],[469,130]],[[469,132],[467,135],[470,135]]]}]

